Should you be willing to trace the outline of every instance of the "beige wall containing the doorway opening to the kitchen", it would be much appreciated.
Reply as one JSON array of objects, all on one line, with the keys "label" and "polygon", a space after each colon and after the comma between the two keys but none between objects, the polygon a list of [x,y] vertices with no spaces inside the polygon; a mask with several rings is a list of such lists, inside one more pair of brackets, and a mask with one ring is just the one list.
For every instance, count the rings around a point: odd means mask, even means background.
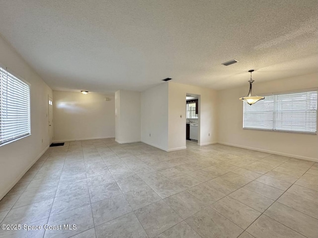
[{"label": "beige wall containing the doorway opening to the kitchen", "polygon": [[[185,149],[186,94],[199,96],[199,145],[217,142],[217,92],[210,88],[169,82],[168,151]],[[182,115],[182,118],[180,118]],[[210,133],[210,136],[209,136]]]}]

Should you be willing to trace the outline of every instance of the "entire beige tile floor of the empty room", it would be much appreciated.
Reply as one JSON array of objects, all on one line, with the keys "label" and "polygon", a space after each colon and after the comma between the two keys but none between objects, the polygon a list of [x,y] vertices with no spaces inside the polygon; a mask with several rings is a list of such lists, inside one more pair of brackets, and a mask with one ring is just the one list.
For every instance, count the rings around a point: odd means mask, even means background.
[{"label": "entire beige tile floor of the empty room", "polygon": [[225,145],[50,148],[0,201],[0,238],[318,238],[318,163]]}]

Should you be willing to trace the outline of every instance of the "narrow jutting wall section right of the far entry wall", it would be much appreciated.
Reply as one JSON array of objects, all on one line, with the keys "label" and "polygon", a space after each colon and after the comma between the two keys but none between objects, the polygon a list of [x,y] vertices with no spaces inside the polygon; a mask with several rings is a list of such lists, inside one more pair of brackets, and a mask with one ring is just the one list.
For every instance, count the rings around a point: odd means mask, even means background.
[{"label": "narrow jutting wall section right of the far entry wall", "polygon": [[115,140],[131,143],[141,140],[141,93],[119,90],[115,92]]}]

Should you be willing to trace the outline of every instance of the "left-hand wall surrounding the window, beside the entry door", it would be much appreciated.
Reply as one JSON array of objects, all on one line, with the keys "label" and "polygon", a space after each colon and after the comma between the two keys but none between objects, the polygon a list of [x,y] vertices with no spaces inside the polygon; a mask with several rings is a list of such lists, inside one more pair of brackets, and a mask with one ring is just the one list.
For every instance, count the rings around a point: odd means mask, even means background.
[{"label": "left-hand wall surrounding the window, beside the entry door", "polygon": [[52,96],[52,90],[1,37],[0,52],[0,64],[31,84],[32,134],[0,146],[1,199],[49,146],[48,95]]}]

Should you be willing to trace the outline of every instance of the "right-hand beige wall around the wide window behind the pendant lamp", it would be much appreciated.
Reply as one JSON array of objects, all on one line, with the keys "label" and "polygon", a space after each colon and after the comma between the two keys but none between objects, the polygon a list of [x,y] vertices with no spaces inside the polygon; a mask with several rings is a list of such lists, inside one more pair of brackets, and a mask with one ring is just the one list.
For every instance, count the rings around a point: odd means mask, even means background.
[{"label": "right-hand beige wall around the wide window behind the pendant lamp", "polygon": [[[253,83],[257,94],[318,87],[318,74]],[[239,88],[219,91],[219,142],[243,148],[273,152],[318,161],[318,136],[242,129],[242,101],[248,83]],[[266,99],[265,99],[266,100]]]}]

